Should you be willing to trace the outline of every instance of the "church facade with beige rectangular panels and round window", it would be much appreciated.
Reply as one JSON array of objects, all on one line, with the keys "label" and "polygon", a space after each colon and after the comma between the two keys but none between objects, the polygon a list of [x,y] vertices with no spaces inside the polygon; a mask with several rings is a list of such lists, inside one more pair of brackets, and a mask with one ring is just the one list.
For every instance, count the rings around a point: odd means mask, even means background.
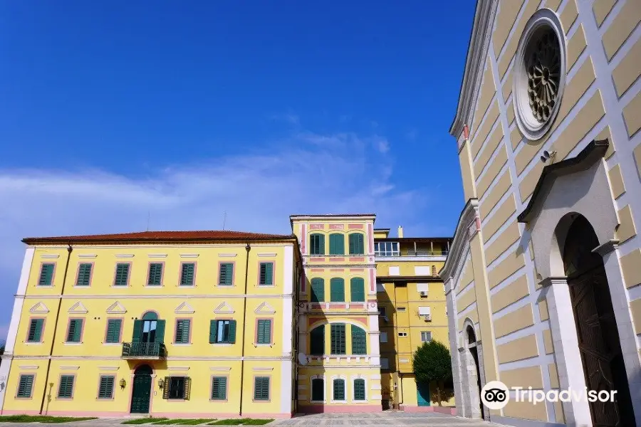
[{"label": "church facade with beige rectangular panels and round window", "polygon": [[[641,3],[480,0],[457,115],[467,204],[444,269],[459,412],[641,426]],[[481,387],[617,391],[480,404]]]}]

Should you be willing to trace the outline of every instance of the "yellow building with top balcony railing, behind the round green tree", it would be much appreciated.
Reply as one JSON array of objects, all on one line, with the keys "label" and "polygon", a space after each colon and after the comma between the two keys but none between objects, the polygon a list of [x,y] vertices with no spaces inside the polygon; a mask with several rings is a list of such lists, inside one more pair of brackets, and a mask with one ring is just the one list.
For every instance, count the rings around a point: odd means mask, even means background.
[{"label": "yellow building with top balcony railing, behind the round green tree", "polygon": [[[445,292],[437,272],[451,239],[408,238],[401,227],[397,238],[389,233],[389,228],[374,231],[383,405],[432,411],[437,403],[429,384],[415,381],[412,355],[423,342],[449,342]],[[454,400],[442,404],[453,406]]]}]

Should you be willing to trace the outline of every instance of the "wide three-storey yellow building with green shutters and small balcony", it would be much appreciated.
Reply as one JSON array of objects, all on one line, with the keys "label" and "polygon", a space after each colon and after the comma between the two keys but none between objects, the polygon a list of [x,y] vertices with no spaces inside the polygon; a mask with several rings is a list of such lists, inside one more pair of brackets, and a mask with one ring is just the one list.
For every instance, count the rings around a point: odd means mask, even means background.
[{"label": "wide three-storey yellow building with green shutters and small balcony", "polygon": [[2,414],[290,417],[296,236],[26,238]]}]

